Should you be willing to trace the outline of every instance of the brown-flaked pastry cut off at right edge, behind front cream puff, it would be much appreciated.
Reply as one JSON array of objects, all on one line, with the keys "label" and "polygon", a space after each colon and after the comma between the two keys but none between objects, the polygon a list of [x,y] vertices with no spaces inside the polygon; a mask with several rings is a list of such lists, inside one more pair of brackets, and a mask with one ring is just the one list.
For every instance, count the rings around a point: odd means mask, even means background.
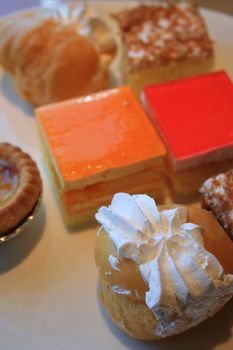
[{"label": "brown-flaked pastry cut off at right edge, behind front cream puff", "polygon": [[200,188],[202,205],[233,239],[233,170],[207,179]]}]

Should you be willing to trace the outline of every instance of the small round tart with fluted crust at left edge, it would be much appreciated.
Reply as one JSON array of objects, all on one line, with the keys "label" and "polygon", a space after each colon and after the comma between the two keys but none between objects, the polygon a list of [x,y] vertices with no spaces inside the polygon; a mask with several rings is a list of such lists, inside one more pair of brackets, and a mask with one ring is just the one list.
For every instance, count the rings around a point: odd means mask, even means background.
[{"label": "small round tart with fluted crust at left edge", "polygon": [[39,170],[19,147],[0,143],[0,236],[32,211],[42,190]]}]

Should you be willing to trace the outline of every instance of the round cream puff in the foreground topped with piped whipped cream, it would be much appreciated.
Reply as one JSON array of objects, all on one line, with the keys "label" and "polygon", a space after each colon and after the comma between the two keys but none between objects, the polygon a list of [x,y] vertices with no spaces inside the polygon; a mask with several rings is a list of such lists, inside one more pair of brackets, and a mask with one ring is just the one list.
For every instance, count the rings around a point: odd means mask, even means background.
[{"label": "round cream puff in the foreground topped with piped whipped cream", "polygon": [[130,336],[182,333],[233,296],[233,243],[210,212],[118,193],[96,219],[101,298]]}]

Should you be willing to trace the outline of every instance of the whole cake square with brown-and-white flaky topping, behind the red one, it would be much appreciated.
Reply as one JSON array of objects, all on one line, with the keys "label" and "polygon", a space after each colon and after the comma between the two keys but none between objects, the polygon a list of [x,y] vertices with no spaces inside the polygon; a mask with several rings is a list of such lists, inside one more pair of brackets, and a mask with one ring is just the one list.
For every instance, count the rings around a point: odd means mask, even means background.
[{"label": "whole cake square with brown-and-white flaky topping, behind the red one", "polygon": [[123,41],[124,77],[138,96],[145,85],[213,68],[212,41],[197,5],[160,1],[121,10],[113,17]]}]

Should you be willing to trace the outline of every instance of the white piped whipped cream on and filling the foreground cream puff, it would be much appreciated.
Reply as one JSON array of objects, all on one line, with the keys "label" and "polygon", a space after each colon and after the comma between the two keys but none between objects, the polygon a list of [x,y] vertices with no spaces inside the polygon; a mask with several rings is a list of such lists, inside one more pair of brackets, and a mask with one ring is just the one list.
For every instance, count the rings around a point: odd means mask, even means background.
[{"label": "white piped whipped cream on and filling the foreground cream puff", "polygon": [[203,228],[188,223],[185,207],[159,211],[147,195],[118,193],[96,219],[120,259],[135,261],[149,286],[146,304],[159,336],[184,331],[211,316],[233,294],[233,275],[204,248]]}]

